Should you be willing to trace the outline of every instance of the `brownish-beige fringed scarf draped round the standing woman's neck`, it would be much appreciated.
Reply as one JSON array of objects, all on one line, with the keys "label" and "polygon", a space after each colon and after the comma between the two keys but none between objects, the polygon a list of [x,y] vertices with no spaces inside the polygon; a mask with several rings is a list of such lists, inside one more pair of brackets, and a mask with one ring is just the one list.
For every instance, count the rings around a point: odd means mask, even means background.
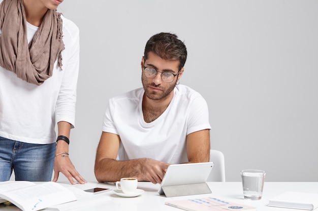
[{"label": "brownish-beige fringed scarf draped round the standing woman's neck", "polygon": [[61,51],[65,47],[60,13],[48,10],[28,44],[23,0],[3,0],[0,30],[0,66],[22,80],[41,85],[52,76],[56,59],[61,68]]}]

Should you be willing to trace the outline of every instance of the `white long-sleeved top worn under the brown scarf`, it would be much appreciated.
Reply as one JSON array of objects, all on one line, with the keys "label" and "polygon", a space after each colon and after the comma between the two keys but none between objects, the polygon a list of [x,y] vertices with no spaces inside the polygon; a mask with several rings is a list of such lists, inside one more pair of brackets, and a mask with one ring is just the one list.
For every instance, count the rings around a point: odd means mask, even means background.
[{"label": "white long-sleeved top worn under the brown scarf", "polygon": [[[0,137],[49,144],[56,141],[55,125],[67,121],[74,127],[79,70],[79,29],[61,16],[63,24],[62,70],[40,86],[28,83],[0,67]],[[28,42],[38,27],[27,24]]]}]

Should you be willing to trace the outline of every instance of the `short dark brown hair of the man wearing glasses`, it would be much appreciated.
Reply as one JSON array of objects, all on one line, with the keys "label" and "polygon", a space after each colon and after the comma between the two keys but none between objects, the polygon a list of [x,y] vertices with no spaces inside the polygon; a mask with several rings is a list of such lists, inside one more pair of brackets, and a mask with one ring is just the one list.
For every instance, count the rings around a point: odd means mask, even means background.
[{"label": "short dark brown hair of the man wearing glasses", "polygon": [[176,34],[161,32],[155,34],[147,41],[144,57],[152,52],[165,60],[179,61],[179,69],[181,69],[186,61],[186,47],[184,43],[178,39]]}]

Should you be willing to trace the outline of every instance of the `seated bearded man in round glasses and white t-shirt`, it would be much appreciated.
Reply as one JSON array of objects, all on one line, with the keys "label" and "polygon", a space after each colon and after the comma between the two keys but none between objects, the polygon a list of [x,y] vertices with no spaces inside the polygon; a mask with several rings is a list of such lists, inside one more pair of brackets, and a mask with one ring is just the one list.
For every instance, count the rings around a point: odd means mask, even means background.
[{"label": "seated bearded man in round glasses and white t-shirt", "polygon": [[207,103],[178,85],[186,56],[175,34],[158,33],[147,41],[141,59],[143,88],[107,105],[94,167],[99,182],[134,177],[156,184],[171,163],[209,161]]}]

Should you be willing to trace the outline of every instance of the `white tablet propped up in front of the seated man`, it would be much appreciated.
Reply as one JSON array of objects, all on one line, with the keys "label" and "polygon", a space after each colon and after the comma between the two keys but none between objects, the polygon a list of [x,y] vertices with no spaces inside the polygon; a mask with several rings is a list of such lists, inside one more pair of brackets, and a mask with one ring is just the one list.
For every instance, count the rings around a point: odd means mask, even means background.
[{"label": "white tablet propped up in front of the seated man", "polygon": [[164,195],[162,187],[165,186],[205,183],[210,175],[213,165],[213,162],[169,165],[158,193]]}]

